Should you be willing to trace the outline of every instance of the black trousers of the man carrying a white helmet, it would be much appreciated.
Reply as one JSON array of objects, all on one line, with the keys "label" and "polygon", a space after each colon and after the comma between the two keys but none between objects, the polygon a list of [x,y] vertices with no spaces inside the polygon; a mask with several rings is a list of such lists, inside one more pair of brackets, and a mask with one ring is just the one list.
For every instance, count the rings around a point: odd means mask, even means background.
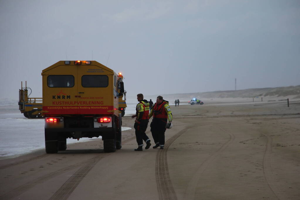
[{"label": "black trousers of the man carrying a white helmet", "polygon": [[160,146],[165,145],[165,132],[166,132],[167,119],[154,118],[150,124],[151,133],[155,144]]}]

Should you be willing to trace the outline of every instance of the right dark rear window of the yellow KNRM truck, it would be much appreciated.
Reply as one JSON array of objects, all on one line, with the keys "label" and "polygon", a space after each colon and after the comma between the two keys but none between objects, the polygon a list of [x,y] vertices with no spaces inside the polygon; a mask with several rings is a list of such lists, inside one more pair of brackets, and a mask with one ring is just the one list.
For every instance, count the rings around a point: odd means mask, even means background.
[{"label": "right dark rear window of the yellow KNRM truck", "polygon": [[81,77],[82,87],[107,87],[107,75],[84,75]]}]

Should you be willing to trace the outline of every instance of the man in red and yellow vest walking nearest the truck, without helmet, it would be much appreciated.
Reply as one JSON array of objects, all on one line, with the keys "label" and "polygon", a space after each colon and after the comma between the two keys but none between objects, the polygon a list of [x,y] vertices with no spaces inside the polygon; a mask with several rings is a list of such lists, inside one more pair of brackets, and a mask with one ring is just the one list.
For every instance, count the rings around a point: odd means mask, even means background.
[{"label": "man in red and yellow vest walking nearest the truck, without helmet", "polygon": [[146,135],[146,129],[149,122],[149,103],[144,99],[143,94],[138,94],[137,100],[139,101],[136,107],[137,112],[135,115],[131,116],[132,118],[136,118],[134,121],[134,129],[138,148],[134,149],[134,151],[143,151],[143,140],[146,142],[145,149],[149,149],[151,146],[150,139]]}]

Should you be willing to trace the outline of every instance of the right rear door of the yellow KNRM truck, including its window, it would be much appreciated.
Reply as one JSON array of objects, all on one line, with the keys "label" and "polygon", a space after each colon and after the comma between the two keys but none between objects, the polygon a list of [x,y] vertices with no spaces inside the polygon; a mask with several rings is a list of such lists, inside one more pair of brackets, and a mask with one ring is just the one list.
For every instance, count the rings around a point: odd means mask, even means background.
[{"label": "right rear door of the yellow KNRM truck, including its window", "polygon": [[111,72],[96,65],[77,70],[78,114],[112,114]]}]

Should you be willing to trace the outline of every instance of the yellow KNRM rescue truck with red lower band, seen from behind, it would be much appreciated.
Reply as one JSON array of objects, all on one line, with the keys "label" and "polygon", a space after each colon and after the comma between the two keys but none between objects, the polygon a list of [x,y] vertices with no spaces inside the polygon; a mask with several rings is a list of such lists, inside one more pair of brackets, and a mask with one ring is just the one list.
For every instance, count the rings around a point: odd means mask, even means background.
[{"label": "yellow KNRM rescue truck with red lower band, seen from behind", "polygon": [[66,139],[102,136],[105,152],[121,149],[124,94],[121,74],[97,61],[58,61],[42,71],[46,153],[66,150]]}]

